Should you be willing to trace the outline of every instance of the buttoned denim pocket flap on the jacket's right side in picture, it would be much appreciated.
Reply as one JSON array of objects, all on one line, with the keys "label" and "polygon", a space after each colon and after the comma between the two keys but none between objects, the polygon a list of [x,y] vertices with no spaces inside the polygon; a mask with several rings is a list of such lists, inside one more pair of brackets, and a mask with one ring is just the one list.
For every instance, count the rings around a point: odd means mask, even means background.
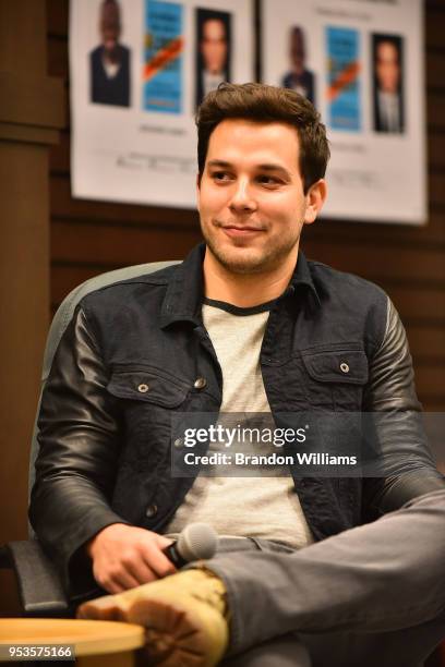
[{"label": "buttoned denim pocket flap on the jacket's right side in picture", "polygon": [[368,381],[368,357],[360,350],[302,352],[309,375],[321,383],[364,385]]}]

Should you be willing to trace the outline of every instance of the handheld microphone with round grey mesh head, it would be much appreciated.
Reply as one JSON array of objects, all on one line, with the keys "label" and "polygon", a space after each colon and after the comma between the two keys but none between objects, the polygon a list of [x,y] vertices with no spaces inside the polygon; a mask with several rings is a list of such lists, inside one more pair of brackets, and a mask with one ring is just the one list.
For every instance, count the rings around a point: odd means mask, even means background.
[{"label": "handheld microphone with round grey mesh head", "polygon": [[212,558],[218,546],[218,535],[207,523],[191,523],[178,539],[163,549],[163,554],[176,568],[182,568],[192,560]]}]

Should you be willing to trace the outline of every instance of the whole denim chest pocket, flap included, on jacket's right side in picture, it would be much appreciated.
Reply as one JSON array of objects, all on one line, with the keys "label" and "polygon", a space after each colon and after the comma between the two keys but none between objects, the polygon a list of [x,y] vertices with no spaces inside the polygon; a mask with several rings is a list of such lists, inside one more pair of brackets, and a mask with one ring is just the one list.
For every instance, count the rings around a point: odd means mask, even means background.
[{"label": "whole denim chest pocket, flap included, on jacket's right side in picture", "polygon": [[326,410],[361,410],[369,377],[363,350],[305,350],[301,356],[305,393],[311,405]]}]

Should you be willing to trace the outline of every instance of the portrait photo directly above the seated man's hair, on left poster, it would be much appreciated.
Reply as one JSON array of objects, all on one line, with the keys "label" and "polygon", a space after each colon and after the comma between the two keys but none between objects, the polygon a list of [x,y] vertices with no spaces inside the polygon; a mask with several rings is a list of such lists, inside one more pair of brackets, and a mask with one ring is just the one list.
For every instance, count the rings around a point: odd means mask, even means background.
[{"label": "portrait photo directly above the seated man's hair, on left poster", "polygon": [[211,90],[230,82],[231,15],[208,9],[196,10],[196,108]]}]

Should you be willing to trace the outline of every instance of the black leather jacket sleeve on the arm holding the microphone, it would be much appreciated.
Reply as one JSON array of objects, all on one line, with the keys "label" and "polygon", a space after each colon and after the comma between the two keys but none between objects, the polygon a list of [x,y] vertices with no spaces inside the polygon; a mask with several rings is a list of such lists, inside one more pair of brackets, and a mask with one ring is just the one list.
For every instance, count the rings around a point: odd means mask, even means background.
[{"label": "black leather jacket sleeve on the arm holding the microphone", "polygon": [[111,523],[128,523],[110,507],[120,438],[106,384],[86,314],[77,306],[43,393],[29,506],[37,537],[72,593],[74,581],[79,591],[95,586],[84,543]]}]

